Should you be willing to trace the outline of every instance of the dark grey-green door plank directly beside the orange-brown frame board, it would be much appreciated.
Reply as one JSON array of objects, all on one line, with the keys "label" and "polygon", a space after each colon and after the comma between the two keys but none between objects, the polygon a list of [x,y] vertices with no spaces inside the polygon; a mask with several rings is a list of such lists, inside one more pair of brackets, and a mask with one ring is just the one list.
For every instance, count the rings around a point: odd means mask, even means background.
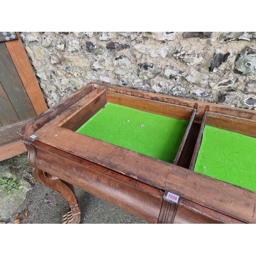
[{"label": "dark grey-green door plank directly beside the orange-brown frame board", "polygon": [[19,119],[23,121],[35,117],[36,113],[6,48],[0,50],[0,81]]}]

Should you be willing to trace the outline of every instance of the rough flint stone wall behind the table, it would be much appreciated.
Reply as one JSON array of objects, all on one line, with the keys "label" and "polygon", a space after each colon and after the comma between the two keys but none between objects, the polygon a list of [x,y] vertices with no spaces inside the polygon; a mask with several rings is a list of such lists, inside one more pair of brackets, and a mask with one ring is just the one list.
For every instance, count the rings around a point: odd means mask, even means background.
[{"label": "rough flint stone wall behind the table", "polygon": [[256,32],[20,32],[50,106],[95,81],[256,107]]}]

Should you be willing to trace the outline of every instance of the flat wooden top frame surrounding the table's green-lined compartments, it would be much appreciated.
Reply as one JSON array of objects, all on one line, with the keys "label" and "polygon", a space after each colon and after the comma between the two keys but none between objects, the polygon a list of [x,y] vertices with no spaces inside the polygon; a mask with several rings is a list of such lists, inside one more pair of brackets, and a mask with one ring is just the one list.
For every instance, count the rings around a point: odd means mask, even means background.
[{"label": "flat wooden top frame surrounding the table's green-lined compartments", "polygon": [[[108,92],[110,96],[106,96]],[[102,97],[98,98],[99,94]],[[253,191],[195,173],[188,168],[153,159],[125,148],[78,134],[72,131],[75,127],[70,128],[67,126],[67,123],[73,123],[77,114],[84,109],[84,105],[89,105],[93,102],[93,105],[95,105],[95,109],[91,114],[93,115],[101,108],[102,102],[106,100],[106,97],[113,97],[114,94],[120,96],[115,97],[115,100],[119,103],[122,100],[125,101],[126,97],[132,96],[138,98],[138,100],[142,99],[142,101],[147,99],[160,104],[165,102],[183,106],[185,107],[184,112],[189,113],[190,116],[196,110],[195,122],[197,123],[202,123],[206,111],[243,118],[245,119],[245,124],[246,122],[251,123],[251,120],[256,120],[255,112],[250,110],[90,83],[67,99],[59,102],[52,109],[36,117],[32,122],[27,123],[20,130],[20,135],[27,140],[27,143],[29,141],[31,145],[37,147],[46,145],[57,148],[62,152],[106,167],[118,174],[161,191],[172,191],[172,193],[179,195],[184,200],[218,211],[220,214],[242,222],[256,223],[256,193]],[[95,99],[97,100],[95,101]],[[129,100],[126,102],[129,102]],[[164,105],[160,109],[164,109]],[[88,114],[87,118],[89,119],[91,115]],[[69,121],[72,119],[72,122]],[[32,139],[31,135],[35,135],[36,138]],[[65,138],[69,138],[69,140],[67,141]],[[79,144],[83,146],[80,147],[78,146]]]}]

